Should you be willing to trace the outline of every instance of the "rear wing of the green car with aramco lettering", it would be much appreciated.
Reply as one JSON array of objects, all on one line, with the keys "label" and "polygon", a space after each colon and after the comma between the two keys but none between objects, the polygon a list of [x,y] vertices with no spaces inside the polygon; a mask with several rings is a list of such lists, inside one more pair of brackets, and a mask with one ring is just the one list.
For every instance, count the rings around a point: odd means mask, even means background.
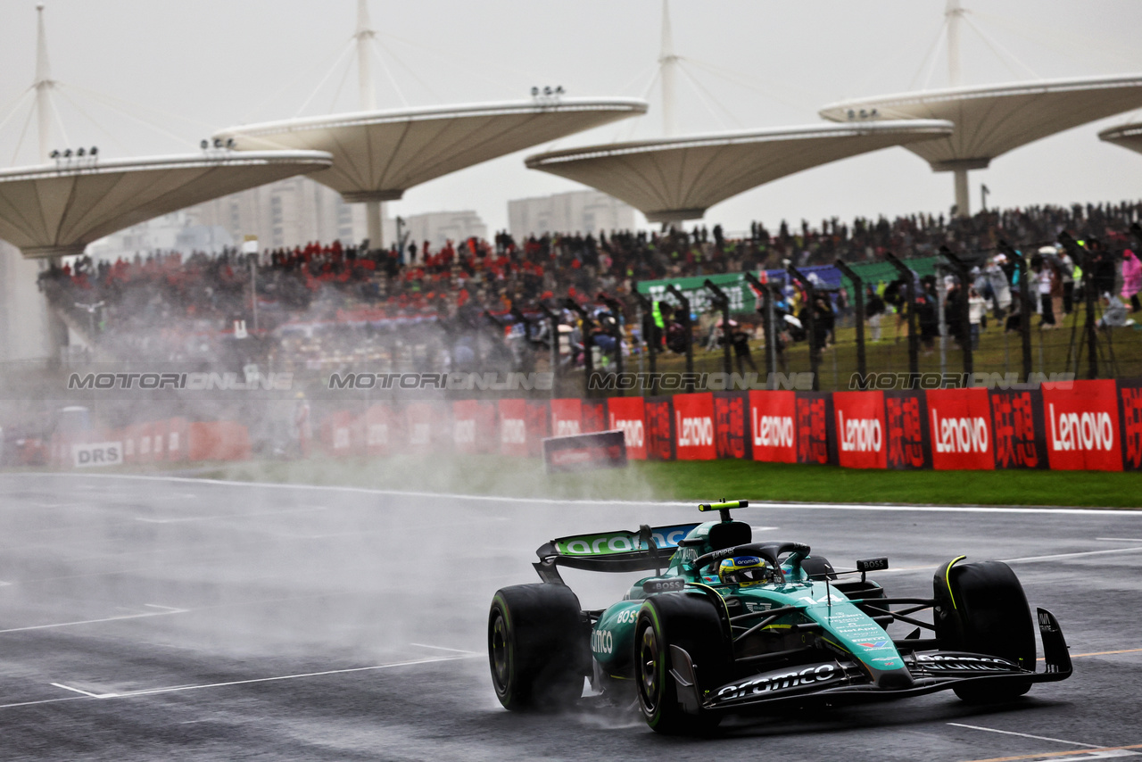
[{"label": "rear wing of the green car with aramco lettering", "polygon": [[649,527],[637,531],[573,535],[545,543],[532,564],[545,583],[563,584],[557,567],[587,571],[661,571],[670,562],[679,540],[698,524]]}]

